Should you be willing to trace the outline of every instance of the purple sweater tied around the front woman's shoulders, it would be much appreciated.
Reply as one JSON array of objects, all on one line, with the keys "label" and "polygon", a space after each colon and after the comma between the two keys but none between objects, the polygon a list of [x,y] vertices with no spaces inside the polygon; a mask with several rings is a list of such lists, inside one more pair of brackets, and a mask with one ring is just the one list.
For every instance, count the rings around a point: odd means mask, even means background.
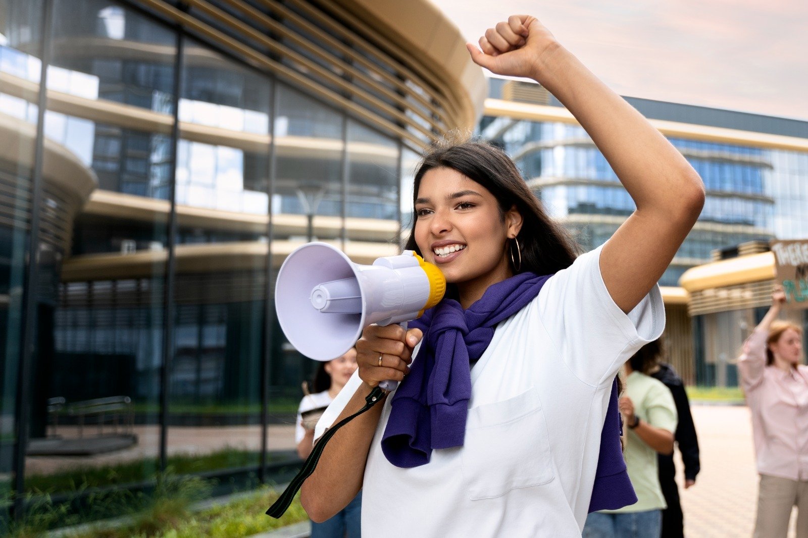
[{"label": "purple sweater tied around the front woman's shoulders", "polygon": [[[418,467],[429,462],[434,449],[463,445],[471,397],[469,360],[482,356],[497,324],[536,298],[551,276],[520,273],[492,284],[465,311],[457,301],[444,299],[410,322],[410,328],[423,331],[423,340],[418,359],[390,402],[381,448],[391,464]],[[637,502],[621,450],[622,426],[616,379],[600,434],[590,512]]]}]

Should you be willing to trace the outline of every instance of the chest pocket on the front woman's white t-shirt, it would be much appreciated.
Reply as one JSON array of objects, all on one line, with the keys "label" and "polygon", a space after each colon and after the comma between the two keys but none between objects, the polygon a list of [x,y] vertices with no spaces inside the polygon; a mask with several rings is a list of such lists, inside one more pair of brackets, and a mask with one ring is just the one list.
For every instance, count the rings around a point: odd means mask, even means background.
[{"label": "chest pocket on the front woman's white t-shirt", "polygon": [[472,500],[553,481],[547,425],[537,389],[469,410],[461,462]]}]

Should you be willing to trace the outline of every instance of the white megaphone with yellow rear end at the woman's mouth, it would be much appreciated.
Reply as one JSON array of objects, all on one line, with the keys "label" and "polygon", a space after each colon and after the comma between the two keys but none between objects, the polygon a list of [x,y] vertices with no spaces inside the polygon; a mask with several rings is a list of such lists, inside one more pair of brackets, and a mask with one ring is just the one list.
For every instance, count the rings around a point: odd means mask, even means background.
[{"label": "white megaphone with yellow rear end at the woman's mouth", "polygon": [[289,343],[326,361],[347,353],[366,326],[413,320],[445,292],[440,269],[412,250],[360,265],[334,246],[313,242],[280,266],[275,305]]}]

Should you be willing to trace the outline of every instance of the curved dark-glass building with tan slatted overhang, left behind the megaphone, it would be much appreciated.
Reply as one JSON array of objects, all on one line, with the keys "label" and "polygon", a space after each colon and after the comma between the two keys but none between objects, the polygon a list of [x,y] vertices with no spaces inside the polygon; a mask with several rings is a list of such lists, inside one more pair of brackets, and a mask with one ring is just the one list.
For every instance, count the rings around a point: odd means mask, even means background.
[{"label": "curved dark-glass building with tan slatted overhang, left behind the megaphone", "polygon": [[0,0],[3,517],[299,464],[316,365],[276,325],[280,263],[398,253],[415,156],[485,95],[419,3],[440,42],[377,2]]}]

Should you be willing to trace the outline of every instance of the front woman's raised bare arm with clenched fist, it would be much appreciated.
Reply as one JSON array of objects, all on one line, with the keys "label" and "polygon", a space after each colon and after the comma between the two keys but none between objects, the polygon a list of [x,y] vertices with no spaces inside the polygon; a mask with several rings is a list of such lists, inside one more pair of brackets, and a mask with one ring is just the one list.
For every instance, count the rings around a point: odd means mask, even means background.
[{"label": "front woman's raised bare arm with clenched fist", "polygon": [[600,271],[624,311],[638,305],[671,263],[704,204],[704,184],[665,137],[563,48],[535,17],[490,28],[473,61],[541,83],[572,112],[629,192],[637,210],[600,254]]}]

